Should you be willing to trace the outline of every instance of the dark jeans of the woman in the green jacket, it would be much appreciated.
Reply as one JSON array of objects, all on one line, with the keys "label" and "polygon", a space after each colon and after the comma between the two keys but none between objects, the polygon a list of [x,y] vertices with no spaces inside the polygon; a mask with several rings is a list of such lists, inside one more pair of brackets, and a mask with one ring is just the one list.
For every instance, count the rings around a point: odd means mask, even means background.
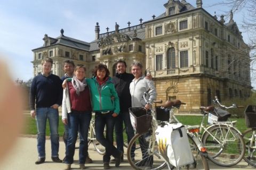
[{"label": "dark jeans of the woman in the green jacket", "polygon": [[[103,156],[103,163],[109,163],[110,156],[119,157],[119,151],[113,145],[113,133],[115,118],[112,116],[113,112],[102,114],[95,112],[95,133],[96,139],[106,149],[106,154]],[[106,125],[106,137],[104,136],[104,128]]]}]

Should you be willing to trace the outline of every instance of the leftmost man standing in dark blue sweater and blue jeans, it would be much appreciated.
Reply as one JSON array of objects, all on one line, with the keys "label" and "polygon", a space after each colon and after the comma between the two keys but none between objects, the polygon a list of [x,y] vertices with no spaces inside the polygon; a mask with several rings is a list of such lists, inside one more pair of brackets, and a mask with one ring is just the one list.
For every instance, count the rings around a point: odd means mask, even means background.
[{"label": "leftmost man standing in dark blue sweater and blue jeans", "polygon": [[62,103],[61,80],[51,74],[53,61],[51,58],[42,60],[42,73],[37,75],[31,84],[29,104],[30,115],[36,117],[38,160],[35,164],[45,162],[45,129],[47,118],[51,131],[51,157],[53,162],[61,163],[59,159],[59,112]]}]

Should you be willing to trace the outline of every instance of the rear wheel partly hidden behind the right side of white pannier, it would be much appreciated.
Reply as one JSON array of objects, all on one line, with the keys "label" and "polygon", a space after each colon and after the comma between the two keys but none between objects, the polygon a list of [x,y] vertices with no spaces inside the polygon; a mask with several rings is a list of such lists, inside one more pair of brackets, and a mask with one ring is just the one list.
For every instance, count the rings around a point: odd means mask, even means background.
[{"label": "rear wheel partly hidden behind the right side of white pannier", "polygon": [[[209,170],[209,164],[207,162],[206,156],[204,156],[202,154],[201,151],[198,150],[197,145],[195,143],[195,141],[188,135],[188,141],[189,141],[189,145],[194,157],[194,164],[192,165],[187,165],[184,168],[181,169],[205,169],[205,170]],[[206,154],[207,155],[207,154]]]}]

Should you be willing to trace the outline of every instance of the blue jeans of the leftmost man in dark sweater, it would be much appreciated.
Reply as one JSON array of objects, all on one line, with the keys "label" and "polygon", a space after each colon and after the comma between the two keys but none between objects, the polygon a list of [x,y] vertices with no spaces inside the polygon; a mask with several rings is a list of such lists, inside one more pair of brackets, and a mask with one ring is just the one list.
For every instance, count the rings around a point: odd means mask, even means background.
[{"label": "blue jeans of the leftmost man in dark sweater", "polygon": [[46,121],[49,120],[51,132],[51,149],[52,157],[59,156],[59,113],[58,109],[50,107],[36,108],[36,125],[37,125],[37,151],[39,158],[45,158],[45,129]]}]

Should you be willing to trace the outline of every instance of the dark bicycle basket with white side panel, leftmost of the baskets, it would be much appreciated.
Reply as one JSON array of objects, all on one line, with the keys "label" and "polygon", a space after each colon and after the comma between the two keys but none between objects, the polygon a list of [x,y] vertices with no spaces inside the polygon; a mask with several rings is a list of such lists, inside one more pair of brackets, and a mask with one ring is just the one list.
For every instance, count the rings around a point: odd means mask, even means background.
[{"label": "dark bicycle basket with white side panel, leftmost of the baskets", "polygon": [[146,109],[141,107],[130,107],[129,113],[132,127],[137,133],[141,134],[149,130],[152,116],[147,114]]}]

